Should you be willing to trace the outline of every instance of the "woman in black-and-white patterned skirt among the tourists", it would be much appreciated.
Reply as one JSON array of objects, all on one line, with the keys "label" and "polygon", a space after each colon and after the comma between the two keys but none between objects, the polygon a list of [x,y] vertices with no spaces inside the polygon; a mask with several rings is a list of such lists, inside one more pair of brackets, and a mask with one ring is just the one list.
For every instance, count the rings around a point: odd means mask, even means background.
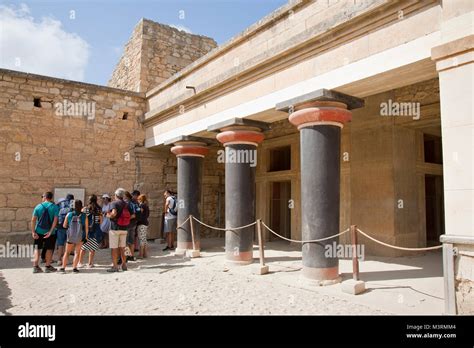
[{"label": "woman in black-and-white patterned skirt among the tourists", "polygon": [[82,244],[81,253],[79,255],[79,267],[82,267],[82,260],[86,252],[89,252],[89,262],[87,263],[88,268],[94,267],[94,256],[95,252],[99,250],[100,243],[102,242],[102,230],[100,225],[102,223],[102,211],[97,204],[97,196],[92,195],[89,197],[89,203],[87,207],[82,209],[82,212],[86,214],[89,224],[89,237],[87,242]]}]

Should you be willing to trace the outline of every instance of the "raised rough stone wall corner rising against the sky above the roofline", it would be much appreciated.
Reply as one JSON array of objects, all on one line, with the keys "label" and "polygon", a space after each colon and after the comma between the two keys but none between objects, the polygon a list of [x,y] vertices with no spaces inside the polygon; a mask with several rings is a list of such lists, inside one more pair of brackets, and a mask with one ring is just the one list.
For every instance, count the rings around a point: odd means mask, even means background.
[{"label": "raised rough stone wall corner rising against the sky above the roofline", "polygon": [[146,92],[216,46],[211,38],[142,19],[125,45],[108,85]]}]

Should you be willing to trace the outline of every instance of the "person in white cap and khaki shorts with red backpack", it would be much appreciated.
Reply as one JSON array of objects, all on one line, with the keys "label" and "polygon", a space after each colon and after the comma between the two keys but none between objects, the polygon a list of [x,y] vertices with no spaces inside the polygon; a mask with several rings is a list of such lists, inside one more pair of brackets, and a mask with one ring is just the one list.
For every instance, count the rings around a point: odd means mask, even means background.
[{"label": "person in white cap and khaki shorts with red backpack", "polygon": [[110,203],[110,210],[107,217],[111,220],[109,232],[109,246],[112,249],[112,267],[107,272],[118,272],[118,257],[122,259],[122,270],[127,270],[127,259],[125,257],[125,246],[127,242],[127,228],[130,224],[130,217],[133,212],[130,206],[124,201],[125,190],[118,188],[115,190],[115,200]]}]

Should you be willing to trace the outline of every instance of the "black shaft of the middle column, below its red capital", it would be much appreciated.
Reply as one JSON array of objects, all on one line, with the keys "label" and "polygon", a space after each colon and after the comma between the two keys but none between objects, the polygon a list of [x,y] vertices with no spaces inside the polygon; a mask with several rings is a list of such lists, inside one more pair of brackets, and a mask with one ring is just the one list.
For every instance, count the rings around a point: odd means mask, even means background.
[{"label": "black shaft of the middle column, below its red capital", "polygon": [[[256,146],[231,144],[228,151],[253,151]],[[250,163],[225,165],[225,217],[226,228],[239,227],[255,221],[255,167]],[[241,230],[227,230],[225,234],[226,258],[229,261],[252,262],[253,235],[255,226]]]}]

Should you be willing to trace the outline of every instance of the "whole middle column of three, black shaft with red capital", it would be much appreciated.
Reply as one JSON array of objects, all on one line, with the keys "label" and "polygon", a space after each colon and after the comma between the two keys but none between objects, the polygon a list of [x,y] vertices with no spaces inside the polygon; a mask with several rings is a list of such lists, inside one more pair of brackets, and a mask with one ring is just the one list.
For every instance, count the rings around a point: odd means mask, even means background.
[{"label": "whole middle column of three, black shaft with red capital", "polygon": [[235,264],[252,263],[255,225],[240,230],[232,227],[255,221],[255,172],[257,146],[268,129],[264,122],[235,118],[218,123],[208,131],[225,147],[225,249],[226,260]]}]

